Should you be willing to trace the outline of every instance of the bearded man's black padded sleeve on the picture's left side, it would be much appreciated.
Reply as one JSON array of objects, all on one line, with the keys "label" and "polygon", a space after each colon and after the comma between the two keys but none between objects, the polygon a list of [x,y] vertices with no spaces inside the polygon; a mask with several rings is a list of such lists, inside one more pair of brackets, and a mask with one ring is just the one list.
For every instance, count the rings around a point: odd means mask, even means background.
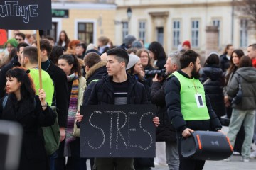
[{"label": "bearded man's black padded sleeve on the picture's left side", "polygon": [[181,113],[181,84],[176,77],[171,77],[165,86],[164,94],[166,100],[167,114],[174,128],[178,132],[186,129],[186,121]]}]

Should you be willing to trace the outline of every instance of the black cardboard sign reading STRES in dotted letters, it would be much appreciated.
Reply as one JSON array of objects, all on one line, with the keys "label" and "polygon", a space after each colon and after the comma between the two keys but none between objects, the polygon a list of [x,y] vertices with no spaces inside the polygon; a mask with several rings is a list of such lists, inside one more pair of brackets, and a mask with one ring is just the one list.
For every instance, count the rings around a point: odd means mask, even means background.
[{"label": "black cardboard sign reading STRES in dotted letters", "polygon": [[81,157],[155,157],[154,105],[82,106]]}]

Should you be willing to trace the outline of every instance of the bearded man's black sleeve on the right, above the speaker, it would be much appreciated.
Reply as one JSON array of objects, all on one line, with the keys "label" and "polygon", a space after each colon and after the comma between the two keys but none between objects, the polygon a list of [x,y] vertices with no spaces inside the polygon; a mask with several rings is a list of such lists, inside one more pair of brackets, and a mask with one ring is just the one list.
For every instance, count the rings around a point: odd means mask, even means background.
[{"label": "bearded man's black sleeve on the right, above the speaker", "polygon": [[218,119],[217,115],[215,114],[215,112],[213,111],[213,108],[210,104],[210,98],[208,97],[208,95],[206,94],[206,106],[208,109],[208,113],[210,116],[210,128],[212,130],[215,130],[216,128],[222,128],[221,124],[220,124],[220,120]]}]

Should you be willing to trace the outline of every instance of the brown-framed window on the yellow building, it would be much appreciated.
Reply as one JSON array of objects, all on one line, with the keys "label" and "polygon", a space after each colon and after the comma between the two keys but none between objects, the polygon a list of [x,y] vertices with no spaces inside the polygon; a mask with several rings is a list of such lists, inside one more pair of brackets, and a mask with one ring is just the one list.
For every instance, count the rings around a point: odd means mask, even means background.
[{"label": "brown-framed window on the yellow building", "polygon": [[93,43],[93,23],[78,23],[78,40]]}]

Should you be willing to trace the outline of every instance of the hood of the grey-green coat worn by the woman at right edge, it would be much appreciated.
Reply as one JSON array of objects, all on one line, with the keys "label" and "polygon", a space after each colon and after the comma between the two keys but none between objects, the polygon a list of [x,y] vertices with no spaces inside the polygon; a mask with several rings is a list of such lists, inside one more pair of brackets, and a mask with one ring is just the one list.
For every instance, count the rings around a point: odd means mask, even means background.
[{"label": "hood of the grey-green coat worn by the woman at right edge", "polygon": [[239,68],[235,73],[239,74],[247,82],[256,81],[256,69],[254,67],[242,67]]}]

